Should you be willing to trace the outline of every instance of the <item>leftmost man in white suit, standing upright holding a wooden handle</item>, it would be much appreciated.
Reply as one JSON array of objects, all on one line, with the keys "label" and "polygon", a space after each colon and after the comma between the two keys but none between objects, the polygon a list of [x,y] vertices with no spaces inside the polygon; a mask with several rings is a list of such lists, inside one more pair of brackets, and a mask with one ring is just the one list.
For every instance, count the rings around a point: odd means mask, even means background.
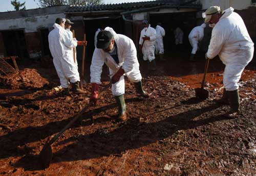
[{"label": "leftmost man in white suit, standing upright holding a wooden handle", "polygon": [[71,34],[65,30],[65,22],[65,18],[56,18],[54,29],[48,36],[53,64],[60,80],[60,86],[64,88],[67,95],[70,95],[69,82],[74,93],[86,93],[79,88],[80,78],[73,57],[73,48],[77,44],[83,45],[84,42],[71,37]]}]

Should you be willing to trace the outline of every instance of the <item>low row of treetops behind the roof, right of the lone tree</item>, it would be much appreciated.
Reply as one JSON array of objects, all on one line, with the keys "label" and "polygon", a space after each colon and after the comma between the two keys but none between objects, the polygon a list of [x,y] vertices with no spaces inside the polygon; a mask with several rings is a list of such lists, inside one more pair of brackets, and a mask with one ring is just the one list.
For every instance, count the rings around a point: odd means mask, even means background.
[{"label": "low row of treetops behind the roof, right of the lone tree", "polygon": [[89,6],[89,5],[102,4],[102,0],[38,0],[38,2],[39,2],[39,6],[41,7],[51,7],[51,6],[61,6],[61,5]]}]

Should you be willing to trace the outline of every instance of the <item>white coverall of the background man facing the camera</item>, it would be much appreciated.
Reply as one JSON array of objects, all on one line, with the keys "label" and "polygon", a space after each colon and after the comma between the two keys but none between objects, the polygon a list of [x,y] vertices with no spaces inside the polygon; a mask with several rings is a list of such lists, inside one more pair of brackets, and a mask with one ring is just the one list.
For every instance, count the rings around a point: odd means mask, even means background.
[{"label": "white coverall of the background man facing the camera", "polygon": [[[142,37],[150,37],[150,40],[144,40],[144,43],[143,43],[143,39]],[[147,29],[143,29],[141,32],[140,32],[140,41],[139,41],[139,44],[142,45],[143,43],[143,46],[142,46],[142,54],[143,54],[143,60],[146,61],[153,61],[155,59],[155,40],[157,38],[157,35],[156,35],[156,30],[152,27],[150,27],[150,24],[148,26]]]}]

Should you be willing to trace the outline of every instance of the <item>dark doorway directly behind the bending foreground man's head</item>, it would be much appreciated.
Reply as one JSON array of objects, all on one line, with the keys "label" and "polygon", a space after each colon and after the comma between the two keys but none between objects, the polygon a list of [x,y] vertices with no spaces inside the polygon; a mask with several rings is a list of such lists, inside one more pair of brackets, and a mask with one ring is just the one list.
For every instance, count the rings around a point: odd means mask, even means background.
[{"label": "dark doorway directly behind the bending foreground man's head", "polygon": [[87,58],[92,58],[95,46],[94,46],[94,36],[95,32],[99,27],[111,27],[117,34],[123,34],[123,20],[121,18],[104,18],[104,19],[90,19],[84,20],[86,38],[88,42],[87,45]]}]

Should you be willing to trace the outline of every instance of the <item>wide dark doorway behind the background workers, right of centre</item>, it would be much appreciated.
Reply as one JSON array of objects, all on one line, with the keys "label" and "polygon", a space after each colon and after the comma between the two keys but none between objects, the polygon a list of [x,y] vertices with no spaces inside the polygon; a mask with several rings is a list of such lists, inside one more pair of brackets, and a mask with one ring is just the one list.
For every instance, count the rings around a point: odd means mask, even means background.
[{"label": "wide dark doorway behind the background workers, right of centre", "polygon": [[174,30],[179,27],[184,33],[182,52],[190,52],[188,35],[196,26],[196,12],[179,12],[179,13],[161,13],[150,14],[150,23],[155,28],[157,23],[161,22],[165,30],[164,48],[165,51],[177,51],[175,47]]}]

